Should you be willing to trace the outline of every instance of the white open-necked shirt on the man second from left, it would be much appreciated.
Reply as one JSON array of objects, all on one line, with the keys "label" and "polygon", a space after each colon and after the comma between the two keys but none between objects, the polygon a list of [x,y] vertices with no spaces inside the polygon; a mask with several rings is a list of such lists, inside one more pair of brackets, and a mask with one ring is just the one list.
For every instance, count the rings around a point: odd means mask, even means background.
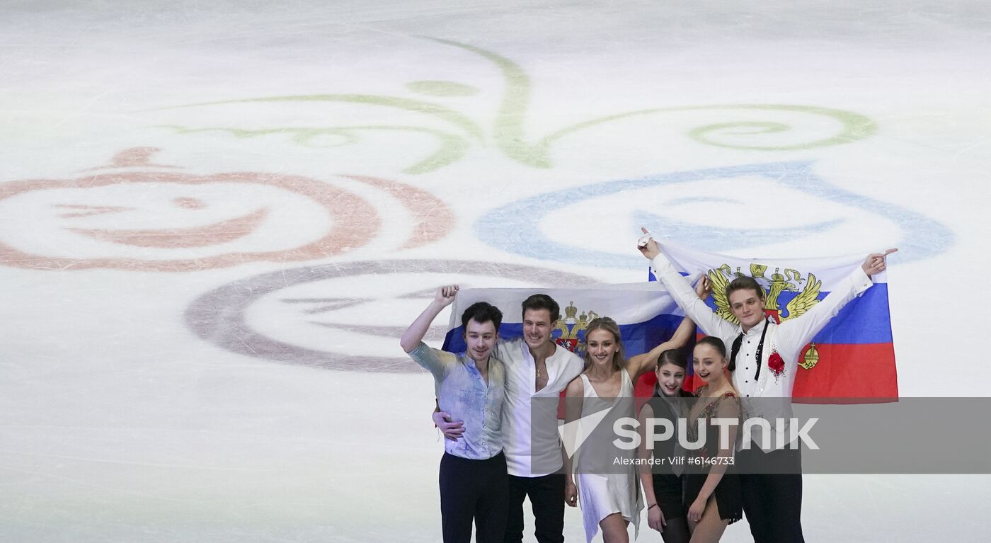
[{"label": "white open-necked shirt on the man second from left", "polygon": [[[516,477],[541,477],[560,470],[564,460],[557,431],[558,404],[549,399],[534,403],[531,399],[560,396],[561,390],[582,373],[582,359],[556,346],[545,363],[547,385],[536,390],[536,361],[523,338],[499,340],[494,354],[505,367],[502,448],[506,470]],[[546,469],[533,473],[534,464]]]}]

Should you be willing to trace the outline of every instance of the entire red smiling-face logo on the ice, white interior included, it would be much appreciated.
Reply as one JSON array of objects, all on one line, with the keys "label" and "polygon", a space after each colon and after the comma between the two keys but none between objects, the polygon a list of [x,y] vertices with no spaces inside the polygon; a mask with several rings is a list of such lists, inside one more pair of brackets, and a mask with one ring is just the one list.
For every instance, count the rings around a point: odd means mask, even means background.
[{"label": "entire red smiling-face logo on the ice, white interior included", "polygon": [[[398,202],[411,224],[386,249],[445,236],[449,208],[387,179],[186,173],[134,148],[74,179],[0,184],[0,263],[36,270],[198,271],[332,257],[369,244],[383,218],[356,192]],[[39,240],[45,243],[39,243]],[[396,247],[397,246],[397,247]]]}]

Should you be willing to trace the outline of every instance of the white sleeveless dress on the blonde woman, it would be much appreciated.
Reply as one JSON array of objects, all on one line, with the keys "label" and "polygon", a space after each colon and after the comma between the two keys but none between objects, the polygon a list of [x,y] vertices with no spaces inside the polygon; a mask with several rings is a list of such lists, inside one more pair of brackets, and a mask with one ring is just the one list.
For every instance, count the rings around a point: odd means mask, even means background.
[{"label": "white sleeveless dress on the blonde woman", "polygon": [[[620,379],[622,381],[619,386],[619,394],[613,401],[613,407],[628,409],[628,415],[633,416],[633,381],[630,380],[629,374],[625,370],[622,370],[621,374],[622,377]],[[602,400],[585,374],[582,374],[582,385],[585,389],[583,396],[586,398],[582,403],[582,416],[585,417],[588,414],[598,411],[598,409],[588,409],[588,406],[594,403],[594,401],[601,402]],[[595,399],[594,401],[589,401],[589,398]],[[623,414],[625,415],[626,413]],[[635,455],[636,451],[632,451],[631,458],[635,457]],[[622,473],[584,474],[581,473],[583,465],[588,466],[589,463],[583,463],[580,454],[576,460],[578,469],[576,470],[575,478],[577,480],[578,499],[582,506],[582,517],[585,521],[585,535],[588,541],[591,542],[592,538],[599,533],[599,522],[612,513],[620,513],[623,519],[632,522],[634,537],[636,537],[640,530],[640,510],[643,508],[643,502],[640,500],[640,487],[639,480],[636,476],[636,467],[625,466]],[[616,469],[618,468],[614,468],[613,471]]]}]

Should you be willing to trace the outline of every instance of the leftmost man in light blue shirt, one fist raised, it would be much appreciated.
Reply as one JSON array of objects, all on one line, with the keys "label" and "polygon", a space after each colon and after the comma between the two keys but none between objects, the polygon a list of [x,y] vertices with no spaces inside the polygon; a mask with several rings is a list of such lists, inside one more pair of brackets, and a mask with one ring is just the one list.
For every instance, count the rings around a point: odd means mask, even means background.
[{"label": "leftmost man in light blue shirt, one fist raised", "polygon": [[473,521],[478,541],[501,541],[508,504],[501,436],[505,368],[492,353],[502,313],[486,302],[465,310],[461,317],[468,346],[465,353],[446,353],[423,343],[430,323],[454,301],[457,291],[455,285],[438,288],[399,345],[433,375],[441,409],[465,423],[462,439],[445,440],[440,462],[444,542],[469,542]]}]

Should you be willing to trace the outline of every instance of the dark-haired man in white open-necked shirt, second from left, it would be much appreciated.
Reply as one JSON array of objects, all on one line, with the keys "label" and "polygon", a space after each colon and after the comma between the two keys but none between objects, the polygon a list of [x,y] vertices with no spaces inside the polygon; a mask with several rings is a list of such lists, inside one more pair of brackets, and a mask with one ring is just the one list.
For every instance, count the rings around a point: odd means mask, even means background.
[{"label": "dark-haired man in white open-necked shirt, second from left", "polygon": [[[523,500],[529,496],[537,541],[561,543],[565,476],[557,433],[557,402],[532,399],[558,397],[582,373],[584,363],[551,339],[551,331],[561,318],[560,306],[553,298],[534,294],[523,301],[522,308],[522,337],[499,340],[494,351],[505,366],[502,446],[509,474],[505,542],[522,541]],[[447,413],[435,412],[433,418],[449,439],[461,434],[461,422],[449,422]],[[538,467],[536,472],[534,466]]]}]

